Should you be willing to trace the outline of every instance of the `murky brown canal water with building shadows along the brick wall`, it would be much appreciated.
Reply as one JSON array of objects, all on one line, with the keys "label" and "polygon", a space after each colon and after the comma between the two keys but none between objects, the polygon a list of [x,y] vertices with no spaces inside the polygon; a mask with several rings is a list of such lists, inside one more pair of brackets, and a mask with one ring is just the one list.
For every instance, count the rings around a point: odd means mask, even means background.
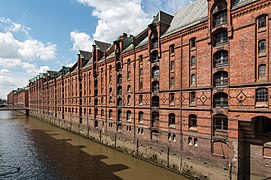
[{"label": "murky brown canal water with building shadows along the brick wall", "polygon": [[0,179],[186,178],[24,114],[0,111]]}]

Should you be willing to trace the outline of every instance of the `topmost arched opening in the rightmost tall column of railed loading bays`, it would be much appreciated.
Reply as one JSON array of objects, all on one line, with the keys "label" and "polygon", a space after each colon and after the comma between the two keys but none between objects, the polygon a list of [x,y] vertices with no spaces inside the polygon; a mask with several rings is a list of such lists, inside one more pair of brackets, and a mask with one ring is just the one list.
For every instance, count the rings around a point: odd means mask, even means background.
[{"label": "topmost arched opening in the rightmost tall column of railed loading bays", "polygon": [[213,27],[227,23],[227,2],[224,0],[217,1],[213,10]]}]

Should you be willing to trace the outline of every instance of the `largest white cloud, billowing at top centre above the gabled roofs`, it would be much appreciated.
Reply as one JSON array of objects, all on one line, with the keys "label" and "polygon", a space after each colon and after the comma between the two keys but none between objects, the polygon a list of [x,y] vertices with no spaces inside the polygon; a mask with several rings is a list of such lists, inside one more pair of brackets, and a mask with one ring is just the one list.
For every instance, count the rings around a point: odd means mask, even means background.
[{"label": "largest white cloud, billowing at top centre above the gabled roofs", "polygon": [[136,35],[150,23],[141,7],[141,0],[77,0],[94,8],[93,16],[98,18],[93,38],[111,43],[118,35]]}]

